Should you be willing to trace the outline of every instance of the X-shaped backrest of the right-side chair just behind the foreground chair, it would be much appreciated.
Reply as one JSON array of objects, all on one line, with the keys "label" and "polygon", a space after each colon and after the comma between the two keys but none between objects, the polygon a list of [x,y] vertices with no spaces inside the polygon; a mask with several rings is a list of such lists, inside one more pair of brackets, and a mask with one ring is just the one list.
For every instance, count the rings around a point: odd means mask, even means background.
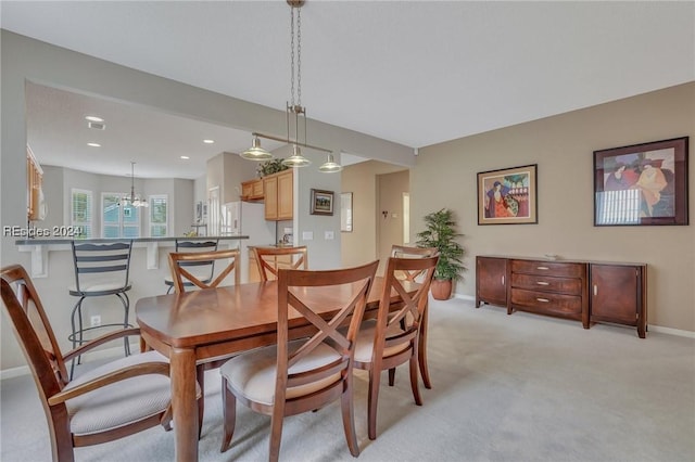
[{"label": "X-shaped backrest of the right-side chair just behind the foreground chair", "polygon": [[[438,260],[439,255],[426,258],[389,258],[383,291],[379,301],[379,313],[377,315],[372,362],[376,363],[381,360],[384,349],[402,345],[404,342],[417,337],[420,322],[427,308],[428,293]],[[412,291],[413,281],[400,279],[397,277],[399,272],[424,273],[424,277],[416,283],[415,293],[408,293],[408,288]],[[397,311],[391,311],[393,307],[391,304],[393,290],[403,300]],[[401,329],[393,329],[395,324],[400,324]],[[397,334],[388,336],[387,332],[397,332]],[[376,368],[375,370],[380,369]]]}]

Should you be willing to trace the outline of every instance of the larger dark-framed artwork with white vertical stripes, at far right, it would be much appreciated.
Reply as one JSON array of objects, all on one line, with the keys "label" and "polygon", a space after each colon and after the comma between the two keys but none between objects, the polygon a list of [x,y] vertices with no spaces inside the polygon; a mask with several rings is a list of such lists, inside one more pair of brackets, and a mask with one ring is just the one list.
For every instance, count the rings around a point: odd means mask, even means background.
[{"label": "larger dark-framed artwork with white vertical stripes, at far right", "polygon": [[594,151],[594,226],[687,224],[688,137]]}]

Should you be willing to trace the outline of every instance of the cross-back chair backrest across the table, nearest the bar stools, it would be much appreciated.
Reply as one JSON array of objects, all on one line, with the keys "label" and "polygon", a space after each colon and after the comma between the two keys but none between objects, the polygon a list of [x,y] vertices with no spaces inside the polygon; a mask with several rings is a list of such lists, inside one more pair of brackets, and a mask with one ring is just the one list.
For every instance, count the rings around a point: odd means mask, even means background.
[{"label": "cross-back chair backrest across the table, nearest the bar stools", "polygon": [[[216,260],[229,260],[224,269],[217,274],[217,278],[203,278],[200,274],[192,274],[189,269],[194,264],[203,261],[206,265],[214,265]],[[185,292],[186,285],[194,285],[200,288],[208,288],[218,286],[231,271],[235,272],[235,284],[239,284],[239,249],[229,248],[213,252],[172,252],[169,254],[169,270],[172,271],[172,280],[174,288],[177,293]]]}]

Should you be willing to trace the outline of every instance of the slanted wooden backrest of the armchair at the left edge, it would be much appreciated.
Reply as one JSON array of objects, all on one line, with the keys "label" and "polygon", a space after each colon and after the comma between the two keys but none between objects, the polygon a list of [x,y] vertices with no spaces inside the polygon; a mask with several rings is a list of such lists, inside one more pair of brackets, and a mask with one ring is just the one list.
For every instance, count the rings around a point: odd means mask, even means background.
[{"label": "slanted wooden backrest of the armchair at the left edge", "polygon": [[0,270],[0,278],[3,305],[48,413],[48,397],[70,381],[63,355],[26,270],[20,265],[9,266]]}]

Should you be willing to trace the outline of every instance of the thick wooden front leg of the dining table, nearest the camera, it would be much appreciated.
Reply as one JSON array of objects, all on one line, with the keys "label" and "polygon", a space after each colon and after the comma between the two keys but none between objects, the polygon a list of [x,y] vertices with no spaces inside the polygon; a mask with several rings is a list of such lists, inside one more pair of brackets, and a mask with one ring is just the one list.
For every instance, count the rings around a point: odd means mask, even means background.
[{"label": "thick wooden front leg of the dining table, nearest the camera", "polygon": [[170,356],[172,406],[176,433],[176,460],[198,461],[198,401],[195,400],[195,351],[174,348]]}]

